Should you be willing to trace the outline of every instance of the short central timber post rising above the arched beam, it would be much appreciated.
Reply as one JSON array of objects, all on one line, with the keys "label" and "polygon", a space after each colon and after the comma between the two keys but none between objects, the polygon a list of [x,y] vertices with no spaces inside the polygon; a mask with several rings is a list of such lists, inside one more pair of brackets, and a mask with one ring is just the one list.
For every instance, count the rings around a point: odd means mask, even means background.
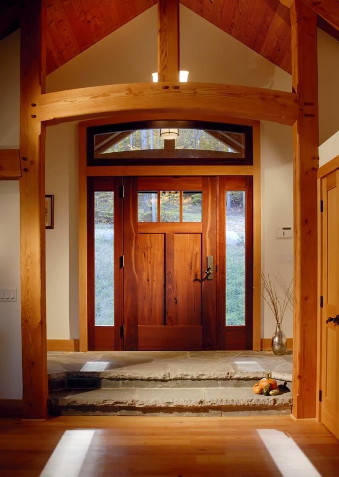
[{"label": "short central timber post rising above the arched beam", "polygon": [[179,81],[179,0],[158,0],[158,81]]}]

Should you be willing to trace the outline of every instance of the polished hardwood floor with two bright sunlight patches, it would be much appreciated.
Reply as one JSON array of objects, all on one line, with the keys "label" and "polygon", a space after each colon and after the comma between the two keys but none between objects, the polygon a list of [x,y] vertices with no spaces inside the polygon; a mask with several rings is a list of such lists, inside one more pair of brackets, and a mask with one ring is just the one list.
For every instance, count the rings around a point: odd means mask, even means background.
[{"label": "polished hardwood floor with two bright sunlight patches", "polygon": [[291,417],[0,419],[0,476],[339,476],[339,441]]}]

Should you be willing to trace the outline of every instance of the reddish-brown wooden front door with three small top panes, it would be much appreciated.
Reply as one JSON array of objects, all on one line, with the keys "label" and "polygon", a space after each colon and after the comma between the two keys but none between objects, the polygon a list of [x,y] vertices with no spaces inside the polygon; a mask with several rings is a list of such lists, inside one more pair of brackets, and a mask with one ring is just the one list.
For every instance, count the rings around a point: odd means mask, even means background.
[{"label": "reddish-brown wooden front door with three small top panes", "polygon": [[216,219],[215,177],[124,179],[124,349],[216,348]]}]

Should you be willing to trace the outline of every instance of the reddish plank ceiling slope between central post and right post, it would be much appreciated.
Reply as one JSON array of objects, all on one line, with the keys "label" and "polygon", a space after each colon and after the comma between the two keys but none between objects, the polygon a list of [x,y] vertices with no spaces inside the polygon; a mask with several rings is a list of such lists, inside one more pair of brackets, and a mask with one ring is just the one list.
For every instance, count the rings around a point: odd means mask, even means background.
[{"label": "reddish plank ceiling slope between central post and right post", "polygon": [[181,0],[181,3],[291,72],[289,8],[279,0]]}]

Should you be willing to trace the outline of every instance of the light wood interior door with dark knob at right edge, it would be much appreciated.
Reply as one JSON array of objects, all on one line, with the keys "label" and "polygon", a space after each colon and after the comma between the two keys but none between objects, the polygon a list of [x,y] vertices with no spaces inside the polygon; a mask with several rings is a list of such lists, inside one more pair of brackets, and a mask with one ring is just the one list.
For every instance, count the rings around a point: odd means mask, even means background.
[{"label": "light wood interior door with dark knob at right edge", "polygon": [[339,439],[339,170],[322,180],[321,421]]}]

